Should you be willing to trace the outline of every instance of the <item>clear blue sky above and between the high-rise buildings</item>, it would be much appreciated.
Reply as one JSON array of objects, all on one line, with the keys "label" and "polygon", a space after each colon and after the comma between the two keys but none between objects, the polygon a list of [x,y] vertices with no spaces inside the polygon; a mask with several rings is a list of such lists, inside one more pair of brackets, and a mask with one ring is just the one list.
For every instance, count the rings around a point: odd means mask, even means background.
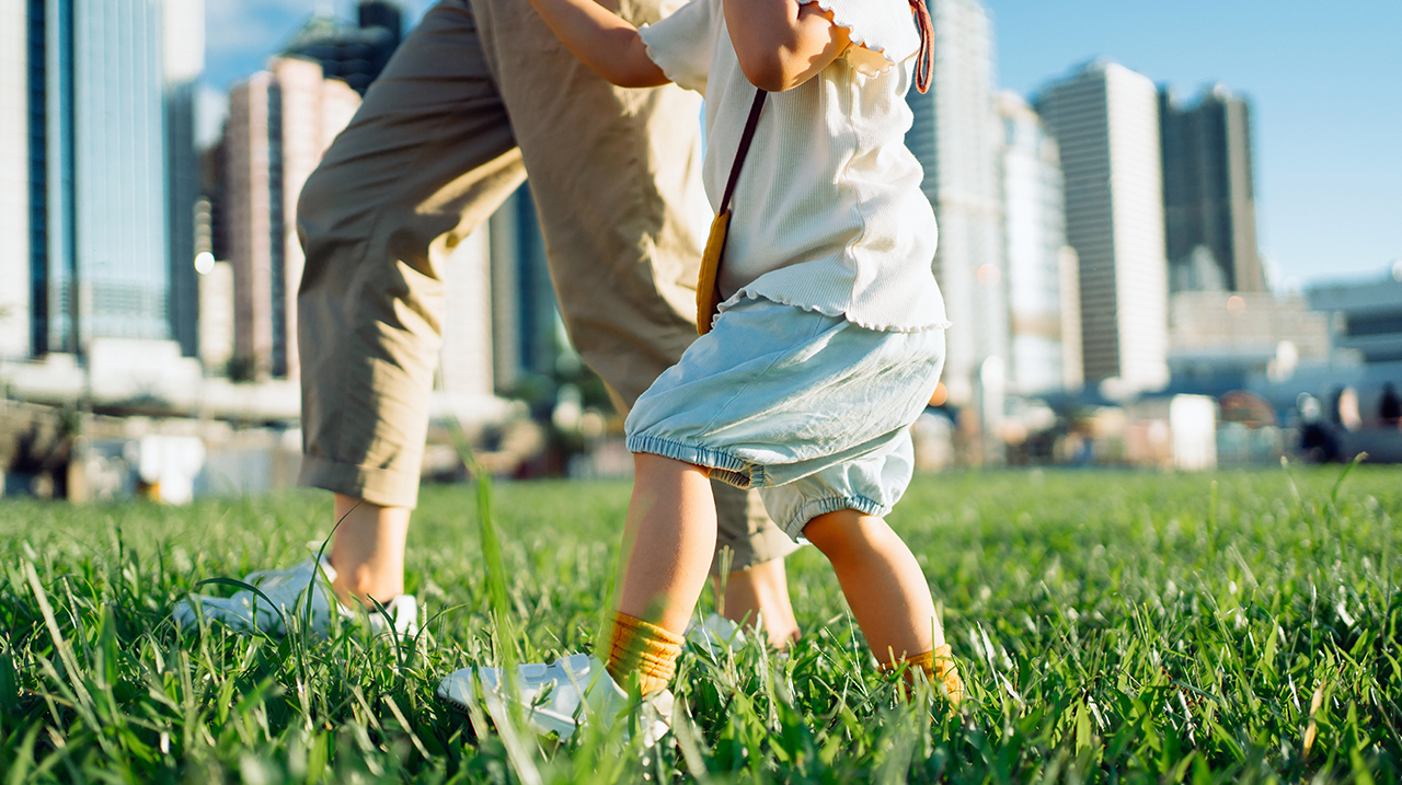
[{"label": "clear blue sky above and between the high-rise buildings", "polygon": [[[432,0],[401,0],[411,20]],[[519,0],[524,3],[526,0]],[[986,0],[998,81],[1022,94],[1108,56],[1253,105],[1260,248],[1277,283],[1384,275],[1402,258],[1402,0]],[[259,67],[317,8],[210,0],[207,81]]]}]

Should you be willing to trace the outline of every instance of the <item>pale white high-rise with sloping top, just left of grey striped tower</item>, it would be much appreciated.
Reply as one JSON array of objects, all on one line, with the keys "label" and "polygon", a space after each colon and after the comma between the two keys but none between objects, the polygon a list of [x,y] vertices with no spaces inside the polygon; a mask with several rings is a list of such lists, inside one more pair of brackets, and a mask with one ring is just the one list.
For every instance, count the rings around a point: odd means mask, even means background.
[{"label": "pale white high-rise with sloping top, just left of grey striped tower", "polygon": [[1002,209],[1012,320],[1008,390],[1032,394],[1080,387],[1080,329],[1063,329],[1075,292],[1068,266],[1061,157],[1042,118],[1012,93],[998,95],[1002,118]]}]

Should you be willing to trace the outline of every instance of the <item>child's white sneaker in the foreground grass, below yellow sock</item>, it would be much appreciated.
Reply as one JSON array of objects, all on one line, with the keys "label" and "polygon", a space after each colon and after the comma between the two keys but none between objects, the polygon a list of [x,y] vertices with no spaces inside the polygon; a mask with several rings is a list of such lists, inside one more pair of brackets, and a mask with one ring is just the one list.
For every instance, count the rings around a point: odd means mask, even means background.
[{"label": "child's white sneaker in the foreground grass, below yellow sock", "polygon": [[[541,736],[557,733],[564,740],[589,722],[627,722],[632,708],[628,692],[614,683],[599,657],[569,655],[550,664],[520,664],[515,676],[515,698],[527,706],[530,714],[526,722]],[[494,704],[501,706],[509,699],[499,667],[456,670],[443,678],[437,694],[463,708],[485,702],[494,716],[499,714],[492,711]],[[672,702],[670,690],[644,697],[639,706],[644,746],[652,747],[672,730]]]}]

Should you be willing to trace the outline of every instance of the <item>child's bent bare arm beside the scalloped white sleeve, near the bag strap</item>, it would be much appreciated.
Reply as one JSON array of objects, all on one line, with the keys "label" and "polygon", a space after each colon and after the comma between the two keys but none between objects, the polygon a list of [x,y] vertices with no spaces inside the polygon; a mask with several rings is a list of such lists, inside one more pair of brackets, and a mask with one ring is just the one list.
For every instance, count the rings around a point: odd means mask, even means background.
[{"label": "child's bent bare arm beside the scalloped white sleeve, near the bag strap", "polygon": [[725,0],[725,25],[744,77],[771,93],[803,84],[852,45],[830,11],[802,0]]}]

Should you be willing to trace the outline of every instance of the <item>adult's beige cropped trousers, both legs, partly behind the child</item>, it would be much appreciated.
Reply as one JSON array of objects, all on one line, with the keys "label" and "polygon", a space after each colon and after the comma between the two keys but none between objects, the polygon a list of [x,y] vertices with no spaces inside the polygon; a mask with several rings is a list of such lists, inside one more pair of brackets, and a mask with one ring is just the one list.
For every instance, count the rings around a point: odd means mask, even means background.
[{"label": "adult's beige cropped trousers, both legs, partly behind the child", "polygon": [[[620,0],[635,24],[658,0]],[[615,88],[524,0],[442,0],[370,87],[297,206],[300,481],[412,507],[442,343],[440,265],[531,172],[569,336],[627,409],[695,339],[711,209],[700,98]],[[743,569],[792,551],[715,484]]]}]

